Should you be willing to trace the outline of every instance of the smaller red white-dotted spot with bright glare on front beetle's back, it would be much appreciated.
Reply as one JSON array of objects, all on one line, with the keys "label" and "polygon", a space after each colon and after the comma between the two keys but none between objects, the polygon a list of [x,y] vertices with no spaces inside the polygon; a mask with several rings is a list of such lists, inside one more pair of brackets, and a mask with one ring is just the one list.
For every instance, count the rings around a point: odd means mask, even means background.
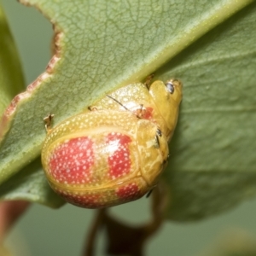
[{"label": "smaller red white-dotted spot with bright glare on front beetle's back", "polygon": [[131,171],[131,159],[129,143],[131,137],[112,132],[108,134],[107,143],[109,152],[112,154],[108,156],[108,166],[110,177],[121,177]]}]

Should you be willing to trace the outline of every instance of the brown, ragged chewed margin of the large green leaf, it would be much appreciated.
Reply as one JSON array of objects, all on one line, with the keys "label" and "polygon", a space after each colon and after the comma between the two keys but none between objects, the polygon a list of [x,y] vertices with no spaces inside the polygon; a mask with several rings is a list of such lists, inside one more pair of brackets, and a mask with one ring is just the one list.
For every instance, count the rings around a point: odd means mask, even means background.
[{"label": "brown, ragged chewed margin of the large green leaf", "polygon": [[[26,5],[26,6],[33,6],[36,9],[38,9],[38,11],[41,12],[41,10],[36,6],[36,5],[32,5],[27,3],[26,1],[19,1],[20,3]],[[42,12],[41,12],[42,13]],[[43,14],[44,15],[44,14]],[[46,15],[44,15],[50,22],[51,20],[49,19],[49,17],[47,17]],[[8,133],[9,128],[10,128],[10,122],[11,120],[15,117],[15,111],[16,109],[19,107],[19,105],[22,102],[25,102],[27,99],[29,99],[30,96],[32,96],[32,92],[33,90],[37,89],[38,86],[45,80],[48,79],[51,74],[54,73],[54,69],[55,69],[55,64],[60,61],[61,59],[61,38],[63,36],[63,33],[60,32],[57,29],[57,25],[54,24],[53,22],[51,22],[51,24],[53,25],[53,29],[55,32],[55,37],[54,37],[54,45],[55,47],[53,47],[54,49],[54,55],[53,57],[49,60],[49,63],[46,67],[46,70],[44,73],[42,73],[41,75],[39,75],[38,79],[36,79],[35,81],[32,82],[32,84],[29,84],[26,87],[26,91],[21,92],[20,94],[18,94],[17,96],[15,96],[15,98],[10,102],[9,107],[6,108],[6,110],[3,113],[3,116],[0,120],[0,143],[3,140],[3,137]]]}]

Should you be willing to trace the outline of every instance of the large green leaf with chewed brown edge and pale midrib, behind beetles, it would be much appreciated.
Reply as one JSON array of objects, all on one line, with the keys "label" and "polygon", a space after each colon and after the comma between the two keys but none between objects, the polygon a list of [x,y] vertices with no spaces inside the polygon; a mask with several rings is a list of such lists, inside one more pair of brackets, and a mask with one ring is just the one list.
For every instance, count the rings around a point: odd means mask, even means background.
[{"label": "large green leaf with chewed brown edge and pale midrib, behind beetles", "polygon": [[[40,154],[48,113],[56,125],[108,90],[154,73],[184,84],[164,173],[171,189],[166,218],[202,218],[255,195],[255,2],[22,2],[55,24],[57,51],[4,115],[2,125],[11,128],[0,145],[2,183]],[[26,183],[40,195],[48,187],[34,177]]]}]

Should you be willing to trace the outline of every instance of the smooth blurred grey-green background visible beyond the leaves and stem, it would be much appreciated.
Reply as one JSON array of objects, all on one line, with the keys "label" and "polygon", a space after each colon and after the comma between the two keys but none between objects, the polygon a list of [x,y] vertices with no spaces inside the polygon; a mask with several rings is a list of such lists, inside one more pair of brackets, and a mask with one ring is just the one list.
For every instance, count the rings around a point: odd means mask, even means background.
[{"label": "smooth blurred grey-green background visible beyond the leaves and stem", "polygon": [[[30,84],[38,77],[50,59],[52,26],[38,10],[22,6],[15,0],[0,0],[13,32],[20,59]],[[132,224],[150,218],[148,200],[142,199],[112,212]],[[68,206],[58,210],[32,205],[9,233],[7,243],[17,256],[80,255],[85,235],[93,219],[93,210]],[[166,222],[146,247],[146,255],[202,255],[224,232],[245,230],[256,237],[256,200],[246,201],[230,212],[196,223]],[[97,255],[103,253],[104,234],[97,244]]]}]

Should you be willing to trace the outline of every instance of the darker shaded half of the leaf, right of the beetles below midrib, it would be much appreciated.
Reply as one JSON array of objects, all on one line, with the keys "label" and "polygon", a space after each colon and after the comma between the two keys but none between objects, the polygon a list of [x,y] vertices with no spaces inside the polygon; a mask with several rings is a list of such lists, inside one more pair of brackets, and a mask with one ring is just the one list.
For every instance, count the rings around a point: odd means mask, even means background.
[{"label": "darker shaded half of the leaf, right of the beetles below midrib", "polygon": [[166,65],[185,84],[164,173],[169,218],[207,217],[255,195],[255,12],[242,9]]}]

